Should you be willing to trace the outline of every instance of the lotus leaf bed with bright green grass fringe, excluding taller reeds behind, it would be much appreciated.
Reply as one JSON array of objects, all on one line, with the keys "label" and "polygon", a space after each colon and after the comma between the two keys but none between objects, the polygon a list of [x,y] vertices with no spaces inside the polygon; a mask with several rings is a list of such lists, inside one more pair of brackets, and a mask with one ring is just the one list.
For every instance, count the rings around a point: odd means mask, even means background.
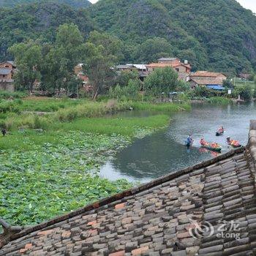
[{"label": "lotus leaf bed with bright green grass fringe, excluding taller reeds behind", "polygon": [[11,130],[0,138],[0,216],[34,225],[132,187],[99,176],[116,152],[155,130],[169,116],[78,118],[46,130]]}]

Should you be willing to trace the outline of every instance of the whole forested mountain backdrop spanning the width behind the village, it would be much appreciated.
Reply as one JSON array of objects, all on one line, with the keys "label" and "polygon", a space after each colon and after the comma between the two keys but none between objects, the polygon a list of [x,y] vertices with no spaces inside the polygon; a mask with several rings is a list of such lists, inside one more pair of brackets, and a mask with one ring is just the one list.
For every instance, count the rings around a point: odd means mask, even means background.
[{"label": "whole forested mountain backdrop spanning the width behind the village", "polygon": [[[6,2],[12,1],[0,5]],[[7,48],[15,42],[52,42],[63,23],[77,24],[84,37],[93,29],[115,35],[124,42],[124,63],[178,56],[194,69],[256,69],[256,16],[235,0],[99,0],[83,10],[40,1],[1,8],[0,60],[11,57]]]}]

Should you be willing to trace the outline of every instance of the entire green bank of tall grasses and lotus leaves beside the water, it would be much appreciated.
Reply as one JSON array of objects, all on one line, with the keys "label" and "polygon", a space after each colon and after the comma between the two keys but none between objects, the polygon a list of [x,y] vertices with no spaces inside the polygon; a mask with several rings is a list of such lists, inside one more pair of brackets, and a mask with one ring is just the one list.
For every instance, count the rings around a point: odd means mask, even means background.
[{"label": "entire green bank of tall grasses and lotus leaves beside the water", "polygon": [[[161,114],[111,115],[149,107]],[[1,127],[9,135],[0,138],[0,216],[12,225],[34,225],[131,187],[126,180],[99,177],[99,167],[133,138],[166,127],[167,113],[187,109],[116,100],[1,99]],[[50,113],[30,113],[36,110]]]}]

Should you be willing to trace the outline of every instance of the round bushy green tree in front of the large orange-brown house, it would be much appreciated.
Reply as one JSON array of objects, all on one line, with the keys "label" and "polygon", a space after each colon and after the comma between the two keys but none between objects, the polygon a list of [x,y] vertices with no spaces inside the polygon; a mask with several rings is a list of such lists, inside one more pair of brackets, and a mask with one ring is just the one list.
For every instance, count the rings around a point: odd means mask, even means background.
[{"label": "round bushy green tree in front of the large orange-brown house", "polygon": [[178,86],[178,74],[171,67],[155,69],[145,79],[144,89],[146,94],[159,96],[162,93],[168,94],[175,91]]}]

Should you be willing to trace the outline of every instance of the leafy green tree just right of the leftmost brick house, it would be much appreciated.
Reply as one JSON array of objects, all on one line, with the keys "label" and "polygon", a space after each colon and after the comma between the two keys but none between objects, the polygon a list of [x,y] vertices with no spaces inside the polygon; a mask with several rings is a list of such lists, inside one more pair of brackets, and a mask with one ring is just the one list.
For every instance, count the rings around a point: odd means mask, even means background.
[{"label": "leafy green tree just right of the leftmost brick house", "polygon": [[15,74],[15,86],[18,89],[34,89],[34,83],[41,78],[42,48],[32,40],[13,45],[10,53],[15,56],[18,72]]}]

